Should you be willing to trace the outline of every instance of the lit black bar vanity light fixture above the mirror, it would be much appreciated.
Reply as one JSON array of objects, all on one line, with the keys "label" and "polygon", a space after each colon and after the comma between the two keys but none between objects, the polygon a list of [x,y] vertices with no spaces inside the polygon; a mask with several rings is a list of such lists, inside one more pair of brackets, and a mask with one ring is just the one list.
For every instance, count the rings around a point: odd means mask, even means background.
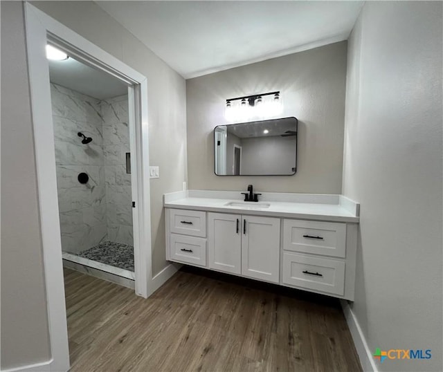
[{"label": "lit black bar vanity light fixture above the mirror", "polygon": [[271,118],[282,112],[280,91],[245,95],[226,100],[225,118],[230,122],[251,118]]}]

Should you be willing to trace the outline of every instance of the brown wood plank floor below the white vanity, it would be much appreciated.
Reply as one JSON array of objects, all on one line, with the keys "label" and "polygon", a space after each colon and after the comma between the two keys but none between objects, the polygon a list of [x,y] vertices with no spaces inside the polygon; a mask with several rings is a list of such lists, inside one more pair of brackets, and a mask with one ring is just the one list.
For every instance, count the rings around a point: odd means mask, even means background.
[{"label": "brown wood plank floor below the white vanity", "polygon": [[361,371],[338,301],[186,268],[149,299],[64,270],[71,371]]}]

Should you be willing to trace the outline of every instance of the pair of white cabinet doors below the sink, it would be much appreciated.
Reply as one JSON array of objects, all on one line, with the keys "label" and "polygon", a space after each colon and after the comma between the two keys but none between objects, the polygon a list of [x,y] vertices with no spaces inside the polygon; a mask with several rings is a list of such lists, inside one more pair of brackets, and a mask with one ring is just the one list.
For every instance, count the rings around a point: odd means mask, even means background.
[{"label": "pair of white cabinet doors below the sink", "polygon": [[208,213],[208,267],[278,283],[280,218]]}]

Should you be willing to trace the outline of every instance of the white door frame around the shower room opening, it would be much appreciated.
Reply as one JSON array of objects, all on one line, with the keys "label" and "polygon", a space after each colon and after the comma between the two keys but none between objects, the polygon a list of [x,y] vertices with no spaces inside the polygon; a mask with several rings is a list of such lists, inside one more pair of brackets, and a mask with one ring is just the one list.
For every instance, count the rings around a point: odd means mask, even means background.
[{"label": "white door frame around the shower room opening", "polygon": [[69,52],[80,62],[99,68],[129,87],[129,133],[134,217],[136,294],[148,297],[152,285],[150,229],[150,171],[147,122],[147,80],[133,68],[81,37],[73,30],[25,3],[30,101],[33,115],[39,216],[48,304],[51,360],[26,370],[68,371],[69,348],[62,267],[62,243],[55,173],[54,132],[46,43]]}]

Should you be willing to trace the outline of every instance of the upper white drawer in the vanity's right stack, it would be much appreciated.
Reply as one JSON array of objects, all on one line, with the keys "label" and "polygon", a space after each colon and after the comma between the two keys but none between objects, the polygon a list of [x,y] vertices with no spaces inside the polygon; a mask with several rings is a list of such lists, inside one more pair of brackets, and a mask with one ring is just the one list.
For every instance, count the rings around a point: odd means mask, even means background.
[{"label": "upper white drawer in the vanity's right stack", "polygon": [[344,258],[346,224],[285,219],[283,249]]}]

